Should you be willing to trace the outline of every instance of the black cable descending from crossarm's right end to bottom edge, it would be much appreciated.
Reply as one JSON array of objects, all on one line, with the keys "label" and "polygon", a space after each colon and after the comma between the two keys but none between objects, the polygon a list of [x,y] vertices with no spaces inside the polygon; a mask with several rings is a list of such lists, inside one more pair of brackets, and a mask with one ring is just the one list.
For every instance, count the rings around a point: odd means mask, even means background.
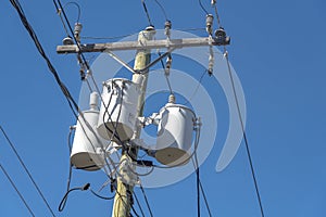
[{"label": "black cable descending from crossarm's right end to bottom edge", "polygon": [[249,159],[250,170],[251,170],[252,179],[253,179],[253,182],[254,182],[254,189],[255,189],[255,193],[256,193],[256,196],[258,196],[258,200],[259,200],[261,216],[264,217],[265,215],[264,215],[263,204],[262,204],[261,194],[260,194],[260,191],[259,191],[259,186],[258,186],[258,181],[256,181],[256,177],[255,177],[255,173],[254,173],[254,167],[253,167],[253,163],[252,163],[252,158],[251,158],[251,154],[250,154],[249,142],[248,142],[248,139],[247,139],[247,133],[246,133],[246,130],[244,130],[244,125],[243,125],[243,119],[242,119],[242,115],[241,115],[241,111],[240,111],[239,100],[238,100],[238,95],[237,95],[237,91],[236,91],[236,87],[235,87],[233,73],[231,73],[231,69],[230,69],[228,53],[227,53],[227,50],[226,50],[225,47],[224,47],[224,53],[225,53],[225,59],[226,59],[226,63],[227,63],[228,75],[229,75],[231,87],[233,87],[234,98],[235,98],[236,105],[237,105],[238,117],[239,117],[239,120],[240,120],[240,124],[241,124],[241,130],[242,130],[243,140],[244,140],[244,144],[246,144],[246,151],[247,151],[247,155],[248,155],[248,159]]}]

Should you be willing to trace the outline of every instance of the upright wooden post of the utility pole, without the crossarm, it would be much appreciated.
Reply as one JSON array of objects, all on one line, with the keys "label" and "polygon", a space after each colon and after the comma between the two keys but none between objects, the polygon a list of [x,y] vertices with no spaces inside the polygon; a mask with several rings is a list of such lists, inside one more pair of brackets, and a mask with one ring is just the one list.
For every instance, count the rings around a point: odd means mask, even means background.
[{"label": "upright wooden post of the utility pole, without the crossarm", "polygon": [[[148,27],[146,30],[142,30],[138,35],[138,42],[140,44],[146,44],[149,40],[152,40],[155,30],[153,27]],[[139,71],[145,68],[151,60],[151,50],[149,49],[141,49],[137,50],[134,69]],[[147,69],[148,71],[148,69]],[[141,94],[138,99],[137,105],[137,114],[136,117],[143,116],[143,105],[145,105],[145,94],[146,88],[148,82],[148,72],[142,72],[141,74],[134,73],[133,75],[133,82],[139,85]],[[133,139],[138,139],[140,137],[141,128],[137,126]],[[133,158],[137,158],[138,149],[131,148],[130,150],[123,150],[122,157],[121,157],[121,168],[120,174],[121,177],[127,177],[127,180],[133,180],[133,178],[128,178],[130,171],[128,173],[128,168],[123,168],[125,162],[131,163]],[[131,168],[133,169],[133,168]],[[114,205],[112,210],[112,217],[129,217],[130,216],[130,207],[133,205],[133,192],[134,192],[135,183],[126,182],[124,180],[117,180],[117,188],[116,194],[114,197]]]}]

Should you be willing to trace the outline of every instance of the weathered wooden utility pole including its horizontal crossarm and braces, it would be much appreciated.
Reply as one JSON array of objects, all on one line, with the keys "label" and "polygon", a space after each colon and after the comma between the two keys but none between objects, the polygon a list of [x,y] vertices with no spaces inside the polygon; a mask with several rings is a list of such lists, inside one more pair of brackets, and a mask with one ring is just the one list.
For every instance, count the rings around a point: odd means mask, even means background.
[{"label": "weathered wooden utility pole including its horizontal crossarm and braces", "polygon": [[[148,71],[151,66],[155,65],[163,58],[166,58],[171,52],[176,49],[189,48],[189,47],[210,47],[209,56],[209,74],[212,74],[214,54],[212,47],[229,44],[230,38],[226,36],[223,28],[215,31],[215,36],[212,35],[212,17],[206,21],[206,28],[209,37],[196,37],[196,38],[181,38],[171,39],[166,34],[165,40],[152,40],[155,34],[153,27],[148,27],[140,31],[137,41],[123,41],[111,43],[88,43],[88,44],[72,44],[65,43],[57,47],[57,52],[61,54],[67,53],[85,53],[85,52],[106,52],[111,58],[121,63],[127,69],[133,72],[133,82],[138,85],[140,89],[140,95],[137,103],[137,114],[135,116],[143,116],[145,95],[148,82]],[[171,27],[171,26],[170,26]],[[170,28],[167,29],[170,31]],[[166,50],[160,58],[151,61],[151,49]],[[137,50],[134,68],[125,63],[122,59],[113,53],[113,51],[126,51]],[[139,139],[141,133],[141,126],[136,126],[131,140]],[[116,183],[116,194],[114,197],[112,217],[129,217],[133,206],[133,192],[137,182],[137,176],[130,171],[135,170],[135,161],[138,157],[138,148],[131,144],[122,145],[122,157],[120,159],[118,178]]]}]

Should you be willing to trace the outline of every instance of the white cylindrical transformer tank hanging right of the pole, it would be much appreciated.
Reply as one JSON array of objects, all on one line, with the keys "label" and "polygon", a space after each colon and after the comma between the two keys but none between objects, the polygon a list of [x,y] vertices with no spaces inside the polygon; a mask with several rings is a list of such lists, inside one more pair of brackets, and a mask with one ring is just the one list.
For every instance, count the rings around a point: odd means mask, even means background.
[{"label": "white cylindrical transformer tank hanging right of the pole", "polygon": [[195,113],[187,106],[167,103],[160,111],[155,158],[164,165],[188,163],[192,144]]}]

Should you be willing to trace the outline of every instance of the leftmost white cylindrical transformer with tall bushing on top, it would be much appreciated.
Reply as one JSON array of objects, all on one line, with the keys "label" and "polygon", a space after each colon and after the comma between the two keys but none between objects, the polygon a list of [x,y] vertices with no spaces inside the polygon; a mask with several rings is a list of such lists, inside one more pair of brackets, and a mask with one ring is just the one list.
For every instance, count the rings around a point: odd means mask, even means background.
[{"label": "leftmost white cylindrical transformer with tall bushing on top", "polygon": [[[79,169],[97,170],[104,166],[104,150],[108,142],[97,132],[99,118],[98,94],[90,95],[90,110],[79,115],[71,153],[71,163]],[[86,120],[86,122],[85,122]]]}]

